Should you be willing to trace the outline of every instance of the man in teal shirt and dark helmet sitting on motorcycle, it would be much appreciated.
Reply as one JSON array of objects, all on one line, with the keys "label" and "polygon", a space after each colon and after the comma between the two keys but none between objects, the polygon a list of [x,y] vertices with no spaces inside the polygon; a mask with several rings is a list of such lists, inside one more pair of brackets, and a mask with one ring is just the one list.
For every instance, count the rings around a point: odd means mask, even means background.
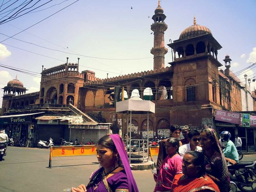
[{"label": "man in teal shirt and dark helmet sitting on motorcycle", "polygon": [[223,154],[225,155],[225,159],[230,164],[238,163],[238,153],[236,146],[230,140],[231,134],[228,131],[222,131],[220,134],[221,142],[225,144],[225,148],[223,149]]}]

